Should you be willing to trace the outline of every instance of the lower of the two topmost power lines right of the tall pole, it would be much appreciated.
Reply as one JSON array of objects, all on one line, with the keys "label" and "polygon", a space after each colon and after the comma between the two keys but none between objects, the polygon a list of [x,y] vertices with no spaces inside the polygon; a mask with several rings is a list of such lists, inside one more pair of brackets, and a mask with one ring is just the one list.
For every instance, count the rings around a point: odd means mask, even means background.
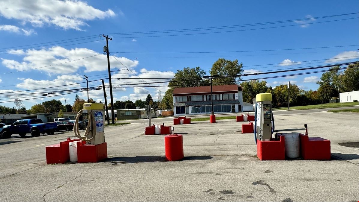
[{"label": "lower of the two topmost power lines right of the tall pole", "polygon": [[[357,19],[356,18],[346,18],[346,19],[339,19],[339,20],[328,20],[328,21],[321,21],[316,23],[303,23],[303,24],[295,24],[295,25],[283,25],[283,26],[276,26],[276,27],[265,27],[265,28],[254,28],[254,29],[241,29],[241,30],[230,30],[230,31],[222,31],[222,32],[205,32],[205,33],[190,33],[190,34],[172,34],[172,35],[155,35],[155,36],[132,36],[132,37],[113,37],[114,39],[125,39],[125,38],[149,38],[149,37],[173,37],[173,36],[185,36],[185,35],[199,35],[199,34],[216,34],[216,33],[230,33],[230,32],[241,32],[241,31],[250,31],[250,30],[260,30],[260,29],[272,29],[272,28],[283,28],[283,27],[293,27],[293,26],[300,26],[300,25],[309,25],[309,24],[318,24],[318,23],[328,23],[334,21],[342,21],[342,20],[351,20]],[[116,35],[116,34],[113,34]]]}]

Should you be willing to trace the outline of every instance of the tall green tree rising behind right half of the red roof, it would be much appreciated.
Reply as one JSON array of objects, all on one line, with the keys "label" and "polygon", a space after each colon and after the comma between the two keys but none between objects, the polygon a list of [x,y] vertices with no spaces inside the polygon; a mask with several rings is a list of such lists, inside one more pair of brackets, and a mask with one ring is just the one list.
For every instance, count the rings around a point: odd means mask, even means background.
[{"label": "tall green tree rising behind right half of the red roof", "polygon": [[242,70],[242,63],[238,64],[238,59],[233,61],[219,58],[216,62],[213,63],[211,71],[209,73],[213,75],[219,76],[233,76],[233,77],[225,77],[225,78],[215,78],[212,80],[212,85],[229,85],[229,84],[236,84],[236,80],[240,80],[240,76],[236,76],[241,74]]}]

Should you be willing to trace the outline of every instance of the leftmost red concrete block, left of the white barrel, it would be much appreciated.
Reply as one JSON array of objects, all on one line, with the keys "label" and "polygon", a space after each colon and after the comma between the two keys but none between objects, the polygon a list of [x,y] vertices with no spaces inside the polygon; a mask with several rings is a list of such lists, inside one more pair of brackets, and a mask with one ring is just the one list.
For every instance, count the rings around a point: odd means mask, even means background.
[{"label": "leftmost red concrete block, left of the white barrel", "polygon": [[46,146],[46,164],[68,162],[70,160],[69,142],[73,141],[79,141],[79,139],[71,140],[67,138],[66,141],[62,141],[59,144]]}]

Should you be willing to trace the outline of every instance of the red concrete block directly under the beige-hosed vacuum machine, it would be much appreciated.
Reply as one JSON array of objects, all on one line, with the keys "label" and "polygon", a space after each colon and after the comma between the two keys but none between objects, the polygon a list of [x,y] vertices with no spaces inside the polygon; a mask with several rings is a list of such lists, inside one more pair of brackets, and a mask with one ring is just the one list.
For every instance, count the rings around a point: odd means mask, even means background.
[{"label": "red concrete block directly under the beige-hosed vacuum machine", "polygon": [[77,162],[96,163],[107,159],[107,143],[86,145],[77,143]]}]

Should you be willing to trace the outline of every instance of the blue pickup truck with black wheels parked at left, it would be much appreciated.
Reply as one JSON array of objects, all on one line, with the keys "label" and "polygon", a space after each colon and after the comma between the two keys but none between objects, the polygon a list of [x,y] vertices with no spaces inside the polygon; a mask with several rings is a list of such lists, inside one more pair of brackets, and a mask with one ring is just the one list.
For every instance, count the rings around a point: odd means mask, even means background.
[{"label": "blue pickup truck with black wheels parked at left", "polygon": [[57,124],[55,122],[43,123],[41,119],[23,119],[4,126],[2,136],[3,138],[10,138],[12,134],[19,134],[21,137],[25,137],[28,133],[33,137],[45,133],[52,135],[56,129]]}]

